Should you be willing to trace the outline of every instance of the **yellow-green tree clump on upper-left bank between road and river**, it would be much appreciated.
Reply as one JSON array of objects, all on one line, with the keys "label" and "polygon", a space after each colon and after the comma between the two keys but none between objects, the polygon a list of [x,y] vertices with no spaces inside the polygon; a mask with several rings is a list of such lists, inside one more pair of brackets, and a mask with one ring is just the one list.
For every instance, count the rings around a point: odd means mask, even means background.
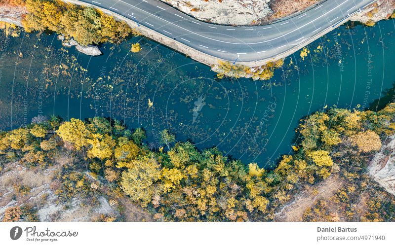
[{"label": "yellow-green tree clump on upper-left bank between road and river", "polygon": [[11,5],[25,6],[28,14],[22,24],[26,32],[52,31],[74,38],[80,45],[104,42],[118,43],[129,35],[139,35],[126,23],[86,6],[61,0],[8,0]]}]

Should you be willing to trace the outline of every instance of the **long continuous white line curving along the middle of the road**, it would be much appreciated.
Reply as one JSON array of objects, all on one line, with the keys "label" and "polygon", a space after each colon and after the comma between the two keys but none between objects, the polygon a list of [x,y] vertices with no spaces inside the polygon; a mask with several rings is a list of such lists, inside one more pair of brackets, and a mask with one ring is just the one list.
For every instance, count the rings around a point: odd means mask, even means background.
[{"label": "long continuous white line curving along the middle of the road", "polygon": [[[122,3],[125,3],[125,4],[127,4],[127,5],[129,5],[129,6],[131,6],[131,7],[137,8],[137,9],[139,9],[140,11],[145,12],[145,13],[147,13],[147,14],[149,14],[149,15],[155,16],[156,18],[158,18],[158,19],[160,19],[160,20],[162,20],[162,21],[164,21],[164,22],[167,22],[167,23],[169,23],[170,25],[174,25],[174,26],[176,26],[176,27],[178,27],[178,28],[180,28],[180,29],[182,29],[182,30],[185,30],[185,31],[187,31],[187,32],[190,32],[191,34],[195,34],[195,35],[197,35],[197,36],[201,36],[201,37],[207,38],[207,39],[209,39],[209,40],[218,41],[218,42],[221,42],[221,43],[228,43],[228,44],[251,45],[251,44],[259,44],[259,43],[271,42],[271,41],[276,40],[276,39],[278,39],[278,38],[282,38],[282,37],[284,37],[284,36],[286,36],[286,35],[289,35],[289,34],[291,34],[291,33],[297,32],[298,30],[300,30],[300,29],[306,27],[307,25],[309,25],[309,24],[315,22],[316,20],[318,20],[318,19],[320,19],[320,18],[322,18],[322,17],[328,15],[330,12],[332,12],[332,11],[334,11],[335,9],[339,8],[340,6],[342,6],[343,4],[345,4],[346,2],[348,2],[349,0],[345,0],[344,2],[340,3],[339,5],[337,5],[336,7],[332,8],[331,10],[329,10],[329,11],[325,12],[324,14],[318,16],[316,19],[314,19],[314,20],[312,20],[312,21],[306,23],[305,25],[302,25],[302,26],[300,26],[300,27],[298,27],[298,28],[293,29],[293,30],[290,31],[289,33],[283,34],[283,35],[281,35],[281,36],[277,36],[277,37],[272,38],[272,39],[268,39],[268,40],[264,40],[264,41],[260,41],[260,42],[253,42],[253,43],[235,43],[235,42],[228,42],[228,41],[223,41],[223,40],[215,39],[215,38],[212,38],[212,37],[204,36],[204,35],[195,33],[195,32],[193,32],[193,31],[190,31],[190,30],[188,30],[188,29],[186,29],[186,28],[183,28],[183,27],[181,27],[181,26],[178,26],[177,24],[172,23],[172,22],[170,22],[170,21],[167,21],[167,20],[165,20],[165,19],[163,19],[163,18],[160,18],[159,16],[153,15],[153,14],[151,14],[151,13],[149,13],[149,12],[147,12],[147,11],[141,9],[141,8],[138,8],[138,7],[136,7],[136,6],[133,6],[133,5],[130,4],[130,3],[127,3],[127,2],[122,1],[122,0],[118,0],[118,1],[120,1],[120,2],[122,2]],[[268,27],[268,28],[272,28],[272,27]]]}]

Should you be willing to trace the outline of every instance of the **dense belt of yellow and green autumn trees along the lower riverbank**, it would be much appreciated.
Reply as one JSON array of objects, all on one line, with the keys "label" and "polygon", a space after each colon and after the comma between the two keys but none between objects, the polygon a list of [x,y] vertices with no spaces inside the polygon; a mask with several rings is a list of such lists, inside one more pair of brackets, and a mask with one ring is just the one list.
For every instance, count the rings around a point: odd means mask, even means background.
[{"label": "dense belt of yellow and green autumn trees along the lower riverbank", "polygon": [[[90,176],[107,180],[111,196],[127,195],[157,220],[272,220],[276,209],[306,186],[339,172],[358,178],[381,140],[395,133],[395,104],[378,112],[339,108],[316,112],[301,120],[297,133],[294,153],[284,155],[276,169],[264,170],[226,157],[216,148],[199,151],[190,142],[176,142],[167,130],[159,134],[161,147],[151,149],[141,128],[131,131],[119,121],[100,117],[65,122],[52,117],[1,132],[0,158],[45,168],[58,151],[67,149],[81,157],[81,167]],[[58,196],[67,200],[97,189],[81,167],[66,166],[59,173]],[[345,192],[351,191],[356,187]]]}]

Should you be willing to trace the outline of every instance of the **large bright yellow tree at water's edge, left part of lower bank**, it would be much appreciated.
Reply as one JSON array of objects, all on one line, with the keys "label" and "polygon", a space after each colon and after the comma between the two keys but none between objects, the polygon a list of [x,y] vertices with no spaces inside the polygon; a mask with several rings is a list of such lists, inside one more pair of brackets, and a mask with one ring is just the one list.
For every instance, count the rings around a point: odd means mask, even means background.
[{"label": "large bright yellow tree at water's edge, left part of lower bank", "polygon": [[59,126],[56,133],[64,141],[73,143],[77,150],[88,145],[90,131],[85,123],[79,119],[72,118],[69,122],[64,122]]}]

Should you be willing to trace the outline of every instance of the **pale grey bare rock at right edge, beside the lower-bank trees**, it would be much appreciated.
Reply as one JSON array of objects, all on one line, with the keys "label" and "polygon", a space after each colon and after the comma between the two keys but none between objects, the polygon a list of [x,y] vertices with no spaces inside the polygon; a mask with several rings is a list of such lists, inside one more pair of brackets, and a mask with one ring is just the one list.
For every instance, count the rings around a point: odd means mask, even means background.
[{"label": "pale grey bare rock at right edge, beside the lower-bank trees", "polygon": [[389,193],[395,195],[395,135],[374,155],[369,164],[368,174]]}]

